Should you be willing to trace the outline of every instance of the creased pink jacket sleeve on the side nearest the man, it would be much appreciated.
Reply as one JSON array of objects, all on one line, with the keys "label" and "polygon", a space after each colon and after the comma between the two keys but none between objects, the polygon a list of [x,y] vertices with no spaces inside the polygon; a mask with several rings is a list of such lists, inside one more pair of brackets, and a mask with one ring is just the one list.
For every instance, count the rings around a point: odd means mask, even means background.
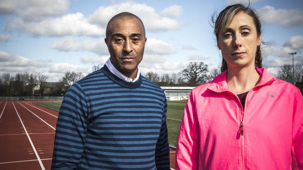
[{"label": "creased pink jacket sleeve on the side nearest the man", "polygon": [[199,126],[196,118],[194,89],[189,94],[180,125],[176,150],[176,169],[198,169]]}]

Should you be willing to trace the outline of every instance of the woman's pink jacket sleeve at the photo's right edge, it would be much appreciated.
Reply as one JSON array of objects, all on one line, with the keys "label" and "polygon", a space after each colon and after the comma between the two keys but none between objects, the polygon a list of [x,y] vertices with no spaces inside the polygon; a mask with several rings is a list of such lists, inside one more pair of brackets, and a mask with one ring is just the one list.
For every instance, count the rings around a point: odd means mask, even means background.
[{"label": "woman's pink jacket sleeve at the photo's right edge", "polygon": [[295,158],[292,158],[292,167],[297,165],[303,169],[303,97],[299,89],[294,100],[292,137],[292,156]]}]

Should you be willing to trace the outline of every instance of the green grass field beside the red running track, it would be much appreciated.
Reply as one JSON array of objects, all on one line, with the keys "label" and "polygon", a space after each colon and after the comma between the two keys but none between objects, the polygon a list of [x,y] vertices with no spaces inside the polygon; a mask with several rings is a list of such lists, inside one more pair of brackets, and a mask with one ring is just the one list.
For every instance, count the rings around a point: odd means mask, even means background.
[{"label": "green grass field beside the red running track", "polygon": [[[170,145],[176,146],[183,117],[184,106],[187,101],[168,101],[167,102],[167,129],[168,141]],[[61,102],[37,102],[37,104],[59,110]]]}]

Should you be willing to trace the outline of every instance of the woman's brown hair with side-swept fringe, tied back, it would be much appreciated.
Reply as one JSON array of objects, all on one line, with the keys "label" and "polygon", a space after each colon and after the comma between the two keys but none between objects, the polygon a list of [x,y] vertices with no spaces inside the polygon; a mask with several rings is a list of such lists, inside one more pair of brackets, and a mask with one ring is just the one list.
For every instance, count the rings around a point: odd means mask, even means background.
[{"label": "woman's brown hair with side-swept fringe, tied back", "polygon": [[[261,30],[261,22],[259,20],[259,16],[255,12],[254,9],[249,7],[245,7],[242,4],[235,4],[230,5],[226,7],[223,11],[219,13],[217,17],[215,17],[215,14],[212,15],[211,21],[214,24],[214,34],[216,35],[216,38],[218,40],[219,34],[223,33],[224,30],[227,28],[227,26],[232,22],[235,15],[237,15],[239,12],[244,12],[247,15],[251,16],[257,30],[257,35],[260,36],[262,33]],[[262,55],[261,55],[261,49],[260,46],[257,46],[257,51],[255,55],[255,66],[258,68],[262,68]],[[222,66],[221,66],[221,72],[224,72],[227,70],[227,63],[225,59],[222,57]]]}]

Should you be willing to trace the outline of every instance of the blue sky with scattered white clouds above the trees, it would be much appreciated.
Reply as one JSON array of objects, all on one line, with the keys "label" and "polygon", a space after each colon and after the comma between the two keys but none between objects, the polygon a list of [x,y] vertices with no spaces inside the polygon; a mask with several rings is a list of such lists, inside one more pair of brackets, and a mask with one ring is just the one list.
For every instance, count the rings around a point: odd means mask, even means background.
[{"label": "blue sky with scattered white clouds above the trees", "polygon": [[[137,15],[147,42],[139,64],[144,75],[178,73],[189,62],[218,68],[222,56],[210,24],[214,13],[247,0],[120,1],[0,0],[0,73],[48,75],[59,81],[67,70],[92,72],[109,53],[107,22],[120,12]],[[303,64],[303,1],[251,0],[262,23],[263,65],[277,76],[283,64]]]}]

